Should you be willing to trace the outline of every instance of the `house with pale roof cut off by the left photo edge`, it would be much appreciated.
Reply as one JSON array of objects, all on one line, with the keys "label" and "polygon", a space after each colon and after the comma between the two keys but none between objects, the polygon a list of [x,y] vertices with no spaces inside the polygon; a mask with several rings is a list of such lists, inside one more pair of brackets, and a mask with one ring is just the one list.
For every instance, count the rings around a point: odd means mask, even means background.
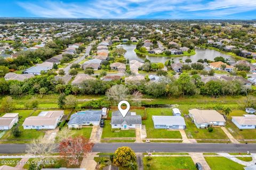
[{"label": "house with pale roof cut off by the left photo edge", "polygon": [[18,122],[18,113],[6,113],[0,117],[0,130],[10,130]]}]

